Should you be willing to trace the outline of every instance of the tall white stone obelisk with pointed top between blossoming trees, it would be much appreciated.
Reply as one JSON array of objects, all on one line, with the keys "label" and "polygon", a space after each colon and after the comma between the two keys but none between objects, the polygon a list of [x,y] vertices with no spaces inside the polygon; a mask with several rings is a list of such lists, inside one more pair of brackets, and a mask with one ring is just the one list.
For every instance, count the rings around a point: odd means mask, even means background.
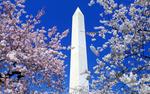
[{"label": "tall white stone obelisk with pointed top between blossoming trees", "polygon": [[88,71],[85,24],[84,15],[79,8],[76,9],[72,18],[71,47],[69,92],[70,94],[88,94],[88,74],[85,73]]}]

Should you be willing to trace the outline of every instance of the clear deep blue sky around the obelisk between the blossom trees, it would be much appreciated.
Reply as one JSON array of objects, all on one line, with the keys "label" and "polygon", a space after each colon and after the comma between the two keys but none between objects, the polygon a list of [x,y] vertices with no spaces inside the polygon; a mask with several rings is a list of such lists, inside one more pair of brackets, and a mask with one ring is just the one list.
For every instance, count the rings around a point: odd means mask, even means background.
[{"label": "clear deep blue sky around the obelisk between the blossom trees", "polygon": [[[81,11],[85,16],[85,28],[86,32],[93,31],[94,26],[99,25],[99,12],[101,11],[99,6],[89,7],[89,0],[27,0],[26,8],[28,14],[36,15],[38,10],[44,8],[45,15],[41,18],[41,24],[39,26],[45,26],[46,28],[57,26],[58,32],[62,32],[65,29],[69,29],[70,33],[67,38],[63,40],[64,45],[71,44],[71,26],[72,26],[72,15],[74,14],[77,7],[80,7]],[[90,37],[87,36],[87,53],[89,70],[96,64],[96,57],[90,51],[89,46],[91,44]],[[66,52],[68,58],[65,64],[68,65],[66,68],[67,73],[67,87],[69,86],[69,67],[70,67],[70,51]]]}]

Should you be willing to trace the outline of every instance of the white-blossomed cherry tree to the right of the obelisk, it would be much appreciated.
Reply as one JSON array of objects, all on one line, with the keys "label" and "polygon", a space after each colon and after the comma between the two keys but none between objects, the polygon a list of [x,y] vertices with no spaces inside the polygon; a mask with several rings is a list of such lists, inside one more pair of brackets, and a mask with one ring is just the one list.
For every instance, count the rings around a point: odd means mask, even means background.
[{"label": "white-blossomed cherry tree to the right of the obelisk", "polygon": [[95,3],[104,9],[102,25],[88,35],[105,42],[90,46],[98,57],[92,94],[149,94],[150,1],[124,5],[115,0],[91,0],[89,5]]}]

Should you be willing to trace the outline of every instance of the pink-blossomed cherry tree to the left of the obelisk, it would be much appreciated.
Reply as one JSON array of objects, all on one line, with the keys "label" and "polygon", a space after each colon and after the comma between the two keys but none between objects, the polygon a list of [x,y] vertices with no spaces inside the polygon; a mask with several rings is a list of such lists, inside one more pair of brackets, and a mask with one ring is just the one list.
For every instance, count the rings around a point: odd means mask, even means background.
[{"label": "pink-blossomed cherry tree to the left of the obelisk", "polygon": [[37,28],[44,11],[27,15],[24,2],[0,0],[0,94],[39,94],[34,88],[42,84],[50,94],[62,92],[66,47],[61,40],[68,30]]}]

